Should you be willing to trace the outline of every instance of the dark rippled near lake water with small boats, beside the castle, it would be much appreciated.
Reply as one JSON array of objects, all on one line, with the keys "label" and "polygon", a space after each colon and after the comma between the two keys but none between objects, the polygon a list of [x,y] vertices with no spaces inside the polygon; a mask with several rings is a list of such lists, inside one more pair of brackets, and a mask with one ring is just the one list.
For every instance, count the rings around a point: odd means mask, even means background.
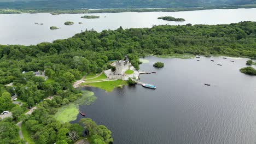
[{"label": "dark rippled near lake water with small boats, beside the castle", "polygon": [[[82,88],[93,91],[97,100],[80,109],[106,125],[114,143],[255,143],[256,76],[239,71],[247,59],[146,59],[141,70],[157,74],[141,75],[141,81],[156,85],[155,90],[139,85],[108,93]],[[165,67],[154,68],[156,61]]]}]

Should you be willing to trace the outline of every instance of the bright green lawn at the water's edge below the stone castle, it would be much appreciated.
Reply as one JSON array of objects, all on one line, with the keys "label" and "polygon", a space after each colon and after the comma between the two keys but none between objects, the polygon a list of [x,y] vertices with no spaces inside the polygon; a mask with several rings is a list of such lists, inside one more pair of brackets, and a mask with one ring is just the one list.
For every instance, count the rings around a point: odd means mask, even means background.
[{"label": "bright green lawn at the water's edge below the stone castle", "polygon": [[91,82],[91,83],[82,83],[82,86],[92,86],[104,89],[107,92],[113,91],[116,87],[122,87],[123,85],[127,85],[126,81],[116,80],[116,81],[102,81],[102,82]]}]

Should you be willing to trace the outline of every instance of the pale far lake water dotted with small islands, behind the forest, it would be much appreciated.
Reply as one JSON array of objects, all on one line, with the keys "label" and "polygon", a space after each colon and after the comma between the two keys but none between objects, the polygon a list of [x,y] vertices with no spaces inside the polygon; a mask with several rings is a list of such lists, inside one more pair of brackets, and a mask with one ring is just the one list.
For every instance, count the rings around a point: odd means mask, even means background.
[{"label": "pale far lake water dotted with small islands, behind the forest", "polygon": [[[50,15],[40,14],[1,14],[0,15],[0,44],[31,45],[43,41],[51,42],[55,39],[72,37],[81,30],[144,28],[153,25],[185,25],[195,24],[229,24],[241,21],[256,21],[256,9],[214,9],[181,12],[149,12],[149,13],[103,13],[100,19],[82,19],[85,14]],[[106,17],[104,17],[106,16]],[[160,16],[174,16],[184,18],[184,22],[158,20]],[[74,25],[65,26],[64,22],[73,21]],[[35,25],[34,22],[44,25]],[[83,22],[79,25],[78,22]],[[61,27],[51,30],[50,26]]]}]

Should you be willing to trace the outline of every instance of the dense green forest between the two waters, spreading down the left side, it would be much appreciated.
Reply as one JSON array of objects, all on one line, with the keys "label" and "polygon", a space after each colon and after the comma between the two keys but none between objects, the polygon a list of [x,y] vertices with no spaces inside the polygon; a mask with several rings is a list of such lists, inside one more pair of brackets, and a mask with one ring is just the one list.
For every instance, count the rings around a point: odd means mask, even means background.
[{"label": "dense green forest between the two waters, spreading down the left side", "polygon": [[[154,26],[152,28],[118,28],[100,33],[85,31],[72,38],[55,40],[53,43],[38,45],[0,45],[0,112],[13,112],[13,119],[0,121],[6,128],[6,143],[17,143],[12,137],[18,136],[14,122],[20,120],[31,131],[38,143],[72,143],[68,137],[77,131],[81,137],[81,125],[61,124],[53,115],[57,108],[71,103],[83,93],[73,88],[72,83],[86,73],[100,73],[110,68],[110,60],[123,59],[128,55],[131,63],[138,68],[138,57],[147,55],[226,55],[256,58],[256,22],[240,22],[230,25],[185,25]],[[44,70],[48,80],[35,76],[33,71]],[[25,71],[25,73],[22,73]],[[5,86],[13,82],[13,86]],[[18,94],[25,101],[22,107],[11,103],[10,95]],[[54,95],[52,100],[44,100]],[[4,104],[4,105],[2,105]],[[37,110],[24,116],[26,107],[37,104]],[[88,120],[88,123],[91,123]],[[94,123],[93,123],[94,124]],[[30,125],[37,125],[32,127]],[[96,132],[100,131],[97,130]],[[105,129],[99,127],[100,129]],[[75,129],[75,130],[74,130]],[[7,130],[7,129],[5,129]],[[91,140],[112,141],[96,132]],[[6,132],[6,131],[5,131]],[[90,132],[89,132],[90,133]],[[2,134],[2,133],[1,133]],[[0,134],[0,136],[1,136]],[[9,137],[9,138],[8,138]]]}]

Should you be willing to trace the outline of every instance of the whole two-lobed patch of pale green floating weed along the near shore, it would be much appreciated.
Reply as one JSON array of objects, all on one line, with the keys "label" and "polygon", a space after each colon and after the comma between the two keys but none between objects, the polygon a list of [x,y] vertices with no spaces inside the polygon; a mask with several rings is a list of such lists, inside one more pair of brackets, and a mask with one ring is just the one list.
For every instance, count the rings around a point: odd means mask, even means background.
[{"label": "whole two-lobed patch of pale green floating weed along the near shore", "polygon": [[79,113],[79,105],[90,105],[95,100],[96,97],[94,96],[93,92],[84,91],[82,97],[73,103],[60,107],[57,113],[54,115],[54,118],[61,123],[74,121],[77,119],[77,115]]}]

